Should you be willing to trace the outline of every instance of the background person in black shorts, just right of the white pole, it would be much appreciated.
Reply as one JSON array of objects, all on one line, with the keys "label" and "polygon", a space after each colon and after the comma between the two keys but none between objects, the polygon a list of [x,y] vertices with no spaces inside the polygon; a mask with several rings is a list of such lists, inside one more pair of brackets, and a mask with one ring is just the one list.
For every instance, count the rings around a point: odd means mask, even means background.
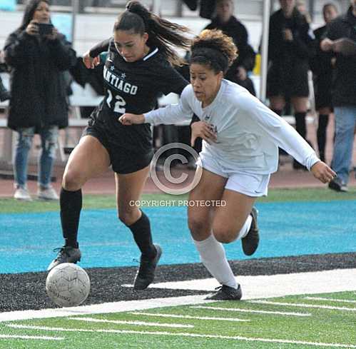
[{"label": "background person in black shorts, just right of the white pole", "polygon": [[[278,115],[282,115],[285,101],[290,98],[295,126],[302,138],[307,135],[307,71],[315,51],[313,39],[305,16],[295,7],[295,0],[280,0],[280,10],[270,17],[267,93],[270,108]],[[295,160],[293,168],[304,169],[304,166]]]}]

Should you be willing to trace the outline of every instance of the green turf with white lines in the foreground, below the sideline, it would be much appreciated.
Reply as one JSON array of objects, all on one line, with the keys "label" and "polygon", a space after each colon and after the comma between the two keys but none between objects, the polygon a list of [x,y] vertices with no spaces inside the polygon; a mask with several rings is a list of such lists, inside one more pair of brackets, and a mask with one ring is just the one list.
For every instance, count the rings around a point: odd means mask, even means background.
[{"label": "green turf with white lines in the foreground, below the sideline", "polygon": [[0,348],[356,348],[355,292],[199,306],[0,323]]}]

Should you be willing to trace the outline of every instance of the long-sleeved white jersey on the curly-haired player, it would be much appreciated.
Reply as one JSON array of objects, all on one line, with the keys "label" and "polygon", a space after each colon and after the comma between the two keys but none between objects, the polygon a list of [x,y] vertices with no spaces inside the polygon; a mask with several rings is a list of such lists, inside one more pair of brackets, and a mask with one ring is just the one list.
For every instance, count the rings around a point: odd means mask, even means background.
[{"label": "long-sleeved white jersey on the curly-haired player", "polygon": [[213,124],[217,143],[203,141],[202,153],[216,158],[226,170],[268,174],[278,169],[278,147],[309,170],[320,161],[315,151],[283,118],[273,113],[245,88],[221,82],[214,101],[206,108],[193,87],[184,88],[178,104],[145,113],[148,123],[172,124],[190,120],[193,113]]}]

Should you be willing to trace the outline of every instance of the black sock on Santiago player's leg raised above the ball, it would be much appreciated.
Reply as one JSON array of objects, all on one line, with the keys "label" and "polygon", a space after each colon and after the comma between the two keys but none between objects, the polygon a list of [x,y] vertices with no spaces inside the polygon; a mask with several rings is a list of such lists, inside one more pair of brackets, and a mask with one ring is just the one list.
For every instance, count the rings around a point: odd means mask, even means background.
[{"label": "black sock on Santiago player's leg raised above the ball", "polygon": [[61,188],[59,202],[61,204],[61,223],[63,238],[66,241],[65,246],[78,248],[77,236],[82,206],[81,189],[66,191],[66,189]]}]

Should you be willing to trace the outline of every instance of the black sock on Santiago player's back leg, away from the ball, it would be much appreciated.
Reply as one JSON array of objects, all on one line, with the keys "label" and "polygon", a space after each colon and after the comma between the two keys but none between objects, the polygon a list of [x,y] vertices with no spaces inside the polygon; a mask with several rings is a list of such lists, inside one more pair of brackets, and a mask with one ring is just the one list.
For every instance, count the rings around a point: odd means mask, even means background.
[{"label": "black sock on Santiago player's back leg, away from the ball", "polygon": [[128,226],[128,228],[130,228],[133,233],[133,238],[142,253],[142,257],[144,259],[155,258],[157,251],[155,246],[153,246],[150,220],[146,214],[142,212],[138,221]]}]

